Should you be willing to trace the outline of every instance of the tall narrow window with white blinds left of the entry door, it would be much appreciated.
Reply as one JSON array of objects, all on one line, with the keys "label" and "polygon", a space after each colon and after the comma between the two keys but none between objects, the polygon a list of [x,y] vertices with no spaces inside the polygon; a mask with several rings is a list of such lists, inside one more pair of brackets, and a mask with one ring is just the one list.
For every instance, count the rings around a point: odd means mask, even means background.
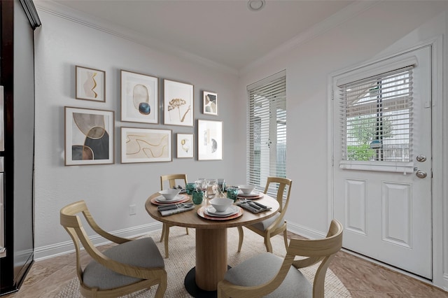
[{"label": "tall narrow window with white blinds left of the entry door", "polygon": [[247,90],[247,182],[264,189],[268,176],[286,178],[286,71]]}]

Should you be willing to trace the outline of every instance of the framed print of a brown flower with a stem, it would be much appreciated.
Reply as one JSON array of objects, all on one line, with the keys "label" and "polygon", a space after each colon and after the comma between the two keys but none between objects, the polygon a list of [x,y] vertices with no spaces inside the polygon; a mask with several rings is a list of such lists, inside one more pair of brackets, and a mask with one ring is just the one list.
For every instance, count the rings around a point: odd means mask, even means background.
[{"label": "framed print of a brown flower with a stem", "polygon": [[193,127],[193,85],[164,80],[163,87],[164,124]]}]

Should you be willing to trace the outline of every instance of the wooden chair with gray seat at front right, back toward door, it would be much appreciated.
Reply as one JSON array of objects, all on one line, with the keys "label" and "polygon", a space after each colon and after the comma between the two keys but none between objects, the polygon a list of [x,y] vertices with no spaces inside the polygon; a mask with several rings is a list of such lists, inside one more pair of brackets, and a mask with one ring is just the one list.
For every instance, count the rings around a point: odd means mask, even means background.
[{"label": "wooden chair with gray seat at front right, back toward door", "polygon": [[[229,269],[218,283],[218,298],[323,298],[328,265],[341,247],[342,225],[332,220],[325,239],[291,239],[284,258],[262,253]],[[302,259],[294,260],[296,256]],[[321,264],[311,285],[300,269],[318,262]]]}]

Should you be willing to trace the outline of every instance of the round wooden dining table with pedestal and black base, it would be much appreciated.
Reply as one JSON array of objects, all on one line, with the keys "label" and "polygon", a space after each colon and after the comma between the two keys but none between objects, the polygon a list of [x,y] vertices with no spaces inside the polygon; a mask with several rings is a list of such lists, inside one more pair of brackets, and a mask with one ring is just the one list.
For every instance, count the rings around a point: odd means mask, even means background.
[{"label": "round wooden dining table with pedestal and black base", "polygon": [[228,270],[227,228],[266,220],[274,216],[280,207],[276,199],[264,194],[256,201],[269,206],[271,208],[269,211],[251,213],[239,207],[243,214],[238,218],[228,220],[204,218],[202,207],[207,206],[207,199],[204,199],[202,204],[195,205],[193,210],[162,216],[158,206],[151,202],[158,196],[160,194],[156,192],[146,200],[145,208],[152,218],[168,225],[196,229],[196,264],[187,274],[184,283],[186,290],[193,297],[216,297],[218,282],[224,279]]}]

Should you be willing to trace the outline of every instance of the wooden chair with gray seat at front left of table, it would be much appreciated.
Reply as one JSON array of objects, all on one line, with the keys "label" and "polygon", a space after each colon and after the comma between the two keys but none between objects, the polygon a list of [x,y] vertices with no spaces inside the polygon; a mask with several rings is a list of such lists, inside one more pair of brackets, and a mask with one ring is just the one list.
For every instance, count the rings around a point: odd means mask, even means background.
[{"label": "wooden chair with gray seat at front left of table", "polygon": [[[85,220],[81,220],[80,214]],[[83,221],[99,236],[118,245],[99,251],[85,232]],[[153,285],[158,285],[155,297],[165,295],[165,262],[151,237],[130,240],[109,234],[94,221],[85,201],[62,208],[60,223],[75,245],[76,273],[84,297],[120,297]],[[85,267],[80,262],[81,244],[93,259]]]}]

